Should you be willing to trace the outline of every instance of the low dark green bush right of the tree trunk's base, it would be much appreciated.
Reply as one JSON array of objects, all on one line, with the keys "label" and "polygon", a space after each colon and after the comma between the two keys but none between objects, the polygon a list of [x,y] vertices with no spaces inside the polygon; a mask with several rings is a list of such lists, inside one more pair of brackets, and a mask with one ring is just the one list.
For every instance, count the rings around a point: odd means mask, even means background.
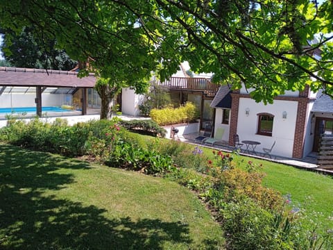
[{"label": "low dark green bush right of the tree trunk's base", "polygon": [[143,134],[165,137],[167,131],[158,126],[151,119],[132,119],[130,121],[121,121],[120,124],[130,131],[142,131]]}]

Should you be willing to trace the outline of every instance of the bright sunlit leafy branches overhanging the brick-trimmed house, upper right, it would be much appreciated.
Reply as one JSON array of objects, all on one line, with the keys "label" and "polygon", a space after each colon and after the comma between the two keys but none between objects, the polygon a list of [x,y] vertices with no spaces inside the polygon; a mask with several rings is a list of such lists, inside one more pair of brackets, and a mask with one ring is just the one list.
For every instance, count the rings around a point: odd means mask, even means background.
[{"label": "bright sunlit leafy branches overhanging the brick-trimmed house, upper right", "polygon": [[191,69],[233,88],[244,83],[256,101],[306,84],[332,95],[332,1],[156,2],[185,28]]}]

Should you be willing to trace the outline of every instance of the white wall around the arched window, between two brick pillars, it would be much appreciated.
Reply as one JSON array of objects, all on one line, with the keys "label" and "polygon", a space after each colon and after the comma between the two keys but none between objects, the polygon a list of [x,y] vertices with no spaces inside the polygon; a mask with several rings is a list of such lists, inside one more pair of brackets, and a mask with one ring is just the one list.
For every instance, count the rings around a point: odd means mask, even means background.
[{"label": "white wall around the arched window, between two brick pillars", "polygon": [[[245,114],[246,108],[250,110],[248,116]],[[292,157],[297,108],[297,101],[275,100],[274,104],[265,106],[263,103],[256,103],[253,99],[241,98],[239,100],[237,125],[239,139],[261,142],[257,146],[257,151],[262,151],[263,147],[271,147],[273,142],[276,141],[272,153],[277,156]],[[287,119],[282,119],[284,111],[287,111]],[[258,113],[274,115],[272,136],[257,135]]]}]

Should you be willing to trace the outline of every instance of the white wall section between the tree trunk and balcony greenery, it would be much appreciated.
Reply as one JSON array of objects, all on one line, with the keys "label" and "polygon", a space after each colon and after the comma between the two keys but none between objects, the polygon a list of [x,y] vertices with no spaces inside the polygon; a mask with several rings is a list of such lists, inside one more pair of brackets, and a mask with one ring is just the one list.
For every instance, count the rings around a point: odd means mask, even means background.
[{"label": "white wall section between the tree trunk and balcony greenery", "polygon": [[123,115],[140,115],[139,105],[144,101],[143,94],[135,94],[130,88],[123,88],[121,94],[121,112]]}]

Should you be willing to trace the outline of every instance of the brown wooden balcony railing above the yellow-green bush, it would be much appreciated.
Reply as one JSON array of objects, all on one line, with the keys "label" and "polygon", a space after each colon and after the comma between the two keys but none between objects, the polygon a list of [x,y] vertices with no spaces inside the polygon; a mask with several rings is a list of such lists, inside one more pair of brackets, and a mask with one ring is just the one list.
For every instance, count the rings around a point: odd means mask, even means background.
[{"label": "brown wooden balcony railing above the yellow-green bush", "polygon": [[171,77],[159,85],[164,85],[170,90],[200,90],[209,97],[214,97],[219,85],[212,83],[210,78],[189,78],[189,77]]}]

